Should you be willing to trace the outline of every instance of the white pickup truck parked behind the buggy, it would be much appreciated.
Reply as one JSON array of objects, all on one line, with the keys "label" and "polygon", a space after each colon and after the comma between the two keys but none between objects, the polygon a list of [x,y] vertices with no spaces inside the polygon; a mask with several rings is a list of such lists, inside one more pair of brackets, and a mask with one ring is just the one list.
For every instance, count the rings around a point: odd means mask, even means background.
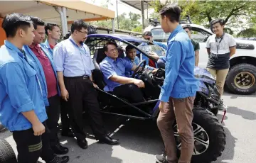
[{"label": "white pickup truck parked behind the buggy", "polygon": [[[186,24],[181,24],[185,26]],[[206,40],[212,31],[193,23],[191,38],[200,43],[199,64],[198,67],[206,68],[208,62],[208,53],[206,51]],[[155,41],[166,43],[170,33],[164,33],[161,26],[149,26],[144,31],[151,31]],[[230,57],[230,71],[225,81],[225,88],[228,88],[233,94],[252,94],[256,91],[256,41],[239,40],[237,43],[235,55]]]}]

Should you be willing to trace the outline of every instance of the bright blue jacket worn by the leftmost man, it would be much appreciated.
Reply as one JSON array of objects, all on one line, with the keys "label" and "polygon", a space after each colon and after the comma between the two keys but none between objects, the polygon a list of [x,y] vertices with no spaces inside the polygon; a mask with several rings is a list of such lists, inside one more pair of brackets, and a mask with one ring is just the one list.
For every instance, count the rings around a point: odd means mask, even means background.
[{"label": "bright blue jacket worn by the leftmost man", "polygon": [[7,40],[0,48],[0,103],[0,121],[11,131],[32,128],[21,112],[35,111],[41,123],[47,119],[36,69]]}]

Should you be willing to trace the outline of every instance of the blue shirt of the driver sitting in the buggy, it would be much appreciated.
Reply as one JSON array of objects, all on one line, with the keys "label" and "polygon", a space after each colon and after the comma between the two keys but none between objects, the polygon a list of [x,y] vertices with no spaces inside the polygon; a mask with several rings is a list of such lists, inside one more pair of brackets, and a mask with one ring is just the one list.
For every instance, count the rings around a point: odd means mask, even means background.
[{"label": "blue shirt of the driver sitting in the buggy", "polygon": [[122,85],[110,80],[110,77],[112,77],[114,74],[121,77],[126,77],[125,71],[130,71],[132,67],[132,62],[128,62],[127,60],[124,60],[122,58],[117,58],[117,60],[113,60],[110,57],[105,57],[105,59],[100,62],[100,69],[103,73],[105,83],[107,84],[104,90],[113,91],[115,87]]}]

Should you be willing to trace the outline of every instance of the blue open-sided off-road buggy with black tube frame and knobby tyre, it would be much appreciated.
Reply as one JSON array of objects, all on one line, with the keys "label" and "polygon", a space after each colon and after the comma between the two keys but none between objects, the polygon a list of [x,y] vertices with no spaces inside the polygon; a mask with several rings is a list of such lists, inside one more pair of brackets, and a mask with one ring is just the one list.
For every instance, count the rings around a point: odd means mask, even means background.
[{"label": "blue open-sided off-road buggy with black tube frame and knobby tyre", "polygon": [[[139,63],[142,69],[134,71],[133,77],[144,81],[145,88],[142,91],[144,99],[146,99],[145,102],[130,103],[129,99],[114,96],[112,92],[104,91],[106,84],[99,66],[100,62],[106,57],[102,48],[108,41],[113,41],[119,45],[119,57],[121,58],[125,56],[124,47],[133,45],[139,52],[139,57],[145,55],[149,58],[151,64],[153,62],[154,65],[152,66],[154,67],[157,67],[157,62],[153,57],[147,55],[148,52],[154,51],[158,55],[165,55],[165,51],[161,47],[151,45],[150,43],[138,47],[138,45],[146,42],[146,40],[129,35],[93,34],[88,35],[85,41],[90,48],[95,64],[95,70],[92,72],[92,76],[100,88],[97,92],[102,113],[139,120],[156,120],[159,115],[159,94],[164,81],[164,69],[159,69],[155,74],[152,74],[150,70],[145,69],[146,61],[142,60]],[[217,157],[220,157],[225,148],[225,132],[223,126],[215,116],[220,106],[220,96],[215,86],[215,80],[206,69],[196,67],[195,75],[198,78],[198,82],[200,82],[200,89],[198,89],[196,94],[193,108],[195,147],[192,162],[212,162]],[[176,124],[173,127],[175,130],[174,136],[176,137],[177,151],[179,153],[181,140],[177,133]]]}]

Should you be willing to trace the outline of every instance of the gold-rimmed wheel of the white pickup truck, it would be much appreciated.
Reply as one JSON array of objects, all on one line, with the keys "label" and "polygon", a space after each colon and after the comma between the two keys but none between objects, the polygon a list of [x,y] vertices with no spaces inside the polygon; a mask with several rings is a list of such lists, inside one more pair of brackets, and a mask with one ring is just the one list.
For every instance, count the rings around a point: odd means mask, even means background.
[{"label": "gold-rimmed wheel of the white pickup truck", "polygon": [[256,67],[252,64],[237,64],[231,67],[226,86],[233,94],[252,94],[256,91]]}]

